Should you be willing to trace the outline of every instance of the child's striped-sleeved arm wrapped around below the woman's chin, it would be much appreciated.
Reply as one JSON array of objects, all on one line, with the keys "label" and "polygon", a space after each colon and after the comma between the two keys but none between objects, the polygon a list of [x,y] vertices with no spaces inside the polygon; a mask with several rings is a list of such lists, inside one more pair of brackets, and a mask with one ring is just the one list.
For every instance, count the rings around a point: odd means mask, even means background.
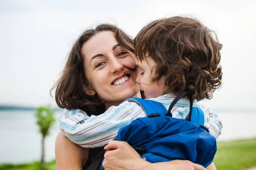
[{"label": "child's striped-sleeved arm wrapped around below the woman's chin", "polygon": [[64,110],[59,116],[59,122],[61,132],[72,142],[81,147],[101,147],[115,139],[121,127],[145,115],[135,102],[123,102],[99,116],[88,116],[79,109]]}]

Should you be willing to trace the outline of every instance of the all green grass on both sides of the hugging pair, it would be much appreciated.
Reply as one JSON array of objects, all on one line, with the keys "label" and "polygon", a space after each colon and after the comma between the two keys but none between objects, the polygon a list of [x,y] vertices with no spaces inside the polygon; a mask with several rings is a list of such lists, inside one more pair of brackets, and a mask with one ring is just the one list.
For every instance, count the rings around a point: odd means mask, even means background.
[{"label": "all green grass on both sides of the hugging pair", "polygon": [[[217,147],[214,159],[217,170],[244,170],[256,167],[256,139],[218,142]],[[46,164],[46,170],[55,170],[55,167],[55,161]],[[40,170],[40,164],[2,164],[0,170]]]}]

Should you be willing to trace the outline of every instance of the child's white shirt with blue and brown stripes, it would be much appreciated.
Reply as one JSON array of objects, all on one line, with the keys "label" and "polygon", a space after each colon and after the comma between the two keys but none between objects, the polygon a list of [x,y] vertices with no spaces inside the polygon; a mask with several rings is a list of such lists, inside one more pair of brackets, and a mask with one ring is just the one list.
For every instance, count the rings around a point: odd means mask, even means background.
[{"label": "child's white shirt with blue and brown stripes", "polygon": [[[167,110],[175,99],[173,94],[166,94],[151,98],[160,102]],[[221,134],[221,119],[217,114],[212,113],[209,108],[194,102],[193,107],[198,106],[204,112],[204,126],[216,139]],[[185,119],[189,113],[189,99],[180,99],[172,108],[172,117]],[[99,116],[88,116],[79,109],[66,110],[59,116],[61,132],[72,142],[81,147],[101,147],[109,141],[116,139],[118,130],[131,123],[134,119],[146,117],[143,108],[135,102],[125,101],[118,106],[110,107],[105,113]]]}]

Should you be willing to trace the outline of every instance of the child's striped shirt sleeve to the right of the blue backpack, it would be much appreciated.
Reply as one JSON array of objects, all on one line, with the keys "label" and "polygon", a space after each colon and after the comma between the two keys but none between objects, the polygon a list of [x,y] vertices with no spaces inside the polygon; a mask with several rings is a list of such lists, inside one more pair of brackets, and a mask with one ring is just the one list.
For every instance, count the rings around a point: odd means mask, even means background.
[{"label": "child's striped shirt sleeve to the right of the blue backpack", "polygon": [[210,134],[217,139],[222,129],[221,118],[216,113],[213,113],[210,108],[205,107],[201,103],[199,105],[204,112],[204,126],[207,127]]}]

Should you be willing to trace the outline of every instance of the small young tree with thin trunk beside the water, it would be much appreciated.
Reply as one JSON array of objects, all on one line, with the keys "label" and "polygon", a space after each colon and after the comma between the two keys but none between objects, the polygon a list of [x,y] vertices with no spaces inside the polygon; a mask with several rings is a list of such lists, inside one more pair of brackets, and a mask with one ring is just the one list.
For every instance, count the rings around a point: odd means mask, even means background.
[{"label": "small young tree with thin trunk beside the water", "polygon": [[39,130],[42,134],[42,152],[41,152],[41,169],[45,169],[44,165],[44,139],[49,134],[49,129],[52,127],[55,122],[54,118],[54,109],[47,107],[39,107],[36,112],[36,123],[39,126]]}]

